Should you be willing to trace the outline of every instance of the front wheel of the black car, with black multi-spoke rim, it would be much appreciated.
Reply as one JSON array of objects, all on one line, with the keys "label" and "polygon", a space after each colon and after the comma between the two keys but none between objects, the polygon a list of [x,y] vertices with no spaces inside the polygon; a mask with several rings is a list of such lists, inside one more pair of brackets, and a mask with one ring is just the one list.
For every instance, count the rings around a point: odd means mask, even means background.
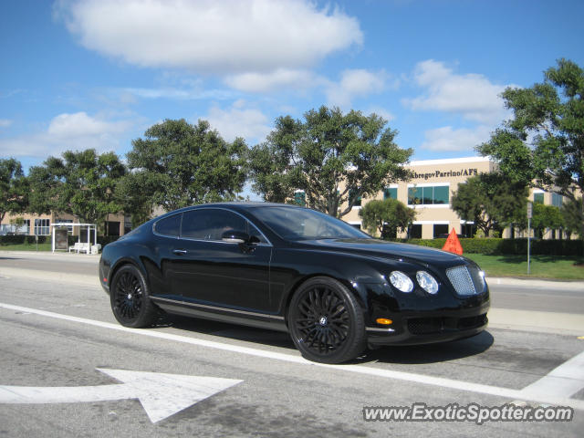
[{"label": "front wheel of the black car, with black multi-spoke rim", "polygon": [[297,349],[308,360],[341,363],[355,359],[366,347],[360,304],[334,278],[316,276],[298,287],[287,323]]}]

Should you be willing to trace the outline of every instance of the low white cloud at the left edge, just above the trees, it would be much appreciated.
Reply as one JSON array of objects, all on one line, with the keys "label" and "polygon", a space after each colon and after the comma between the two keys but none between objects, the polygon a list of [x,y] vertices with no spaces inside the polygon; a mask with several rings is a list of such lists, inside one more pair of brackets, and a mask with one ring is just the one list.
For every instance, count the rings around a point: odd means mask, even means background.
[{"label": "low white cloud at the left edge, just above the trees", "polygon": [[102,120],[85,112],[59,114],[50,121],[47,130],[0,139],[0,150],[7,156],[41,159],[68,150],[113,151],[118,149],[120,136],[130,129],[131,124],[128,120]]}]

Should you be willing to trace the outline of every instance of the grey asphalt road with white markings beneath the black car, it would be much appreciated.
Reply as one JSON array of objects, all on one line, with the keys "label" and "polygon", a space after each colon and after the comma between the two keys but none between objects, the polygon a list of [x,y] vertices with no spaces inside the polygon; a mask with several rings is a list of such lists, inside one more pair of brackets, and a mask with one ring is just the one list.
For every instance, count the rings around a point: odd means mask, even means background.
[{"label": "grey asphalt road with white markings beneath the black car", "polygon": [[[547,285],[491,285],[493,306],[581,317],[584,290]],[[354,363],[325,367],[302,360],[285,333],[185,318],[123,329],[97,282],[97,257],[0,253],[0,437],[580,436],[584,339],[578,335],[584,335],[584,325],[581,333],[572,326],[550,333],[514,322],[501,320],[472,339],[378,349]],[[185,409],[172,414],[173,403],[181,408],[172,385],[146,400],[133,377],[122,385],[114,370],[228,381],[221,381],[224,391],[214,380],[188,383],[188,396],[201,391],[202,400],[186,401]],[[147,379],[153,391],[157,380]],[[529,391],[545,383],[551,383],[546,391]],[[6,394],[20,391],[16,386],[35,388],[26,390],[28,402],[43,404],[10,401]],[[51,389],[61,387],[68,388]],[[155,401],[162,401],[159,411],[151,407]],[[575,416],[571,422],[483,425],[363,419],[364,406],[511,401],[569,405]],[[161,411],[170,415],[156,420]]]}]

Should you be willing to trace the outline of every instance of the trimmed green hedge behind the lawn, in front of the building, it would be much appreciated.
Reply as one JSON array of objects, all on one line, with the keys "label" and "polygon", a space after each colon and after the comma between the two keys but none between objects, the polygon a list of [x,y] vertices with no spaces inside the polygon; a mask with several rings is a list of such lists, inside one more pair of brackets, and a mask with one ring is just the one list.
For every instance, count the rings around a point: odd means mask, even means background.
[{"label": "trimmed green hedge behind the lawn, in front of the building", "polygon": [[[446,239],[394,239],[412,245],[442,248]],[[460,239],[464,253],[485,255],[527,254],[527,239]],[[540,240],[531,239],[533,255],[584,255],[582,240]]]}]

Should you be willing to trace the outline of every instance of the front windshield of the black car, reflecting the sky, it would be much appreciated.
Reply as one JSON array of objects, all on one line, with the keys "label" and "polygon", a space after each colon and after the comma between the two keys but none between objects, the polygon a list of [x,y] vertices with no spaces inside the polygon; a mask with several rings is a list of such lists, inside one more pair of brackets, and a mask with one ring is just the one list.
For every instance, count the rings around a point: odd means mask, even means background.
[{"label": "front windshield of the black car, reflecting the sky", "polygon": [[370,239],[370,235],[328,214],[299,207],[257,207],[255,216],[287,240]]}]

